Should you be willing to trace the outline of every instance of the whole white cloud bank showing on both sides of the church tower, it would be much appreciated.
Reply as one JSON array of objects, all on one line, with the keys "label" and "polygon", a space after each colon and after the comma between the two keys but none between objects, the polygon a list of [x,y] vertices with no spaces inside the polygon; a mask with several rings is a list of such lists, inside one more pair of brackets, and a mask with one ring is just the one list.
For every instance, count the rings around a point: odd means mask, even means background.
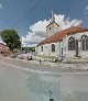
[{"label": "whole white cloud bank showing on both sides of the church tower", "polygon": [[[74,19],[70,21],[70,18],[66,18],[64,14],[54,14],[55,22],[59,24],[61,30],[68,29],[70,26],[78,26],[81,24],[81,20]],[[23,46],[35,45],[42,40],[44,40],[46,35],[46,26],[50,23],[48,20],[38,21],[35,24],[30,26],[30,31],[28,35],[22,37]]]}]

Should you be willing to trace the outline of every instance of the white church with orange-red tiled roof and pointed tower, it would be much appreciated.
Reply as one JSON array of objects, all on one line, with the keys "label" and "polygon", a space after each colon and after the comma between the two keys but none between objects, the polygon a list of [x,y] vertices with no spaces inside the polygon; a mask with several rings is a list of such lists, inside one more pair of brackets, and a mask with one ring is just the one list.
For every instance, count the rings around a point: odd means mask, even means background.
[{"label": "white church with orange-red tiled roof and pointed tower", "polygon": [[36,45],[37,55],[58,58],[88,57],[88,29],[72,26],[62,31],[52,13],[46,34],[47,37]]}]

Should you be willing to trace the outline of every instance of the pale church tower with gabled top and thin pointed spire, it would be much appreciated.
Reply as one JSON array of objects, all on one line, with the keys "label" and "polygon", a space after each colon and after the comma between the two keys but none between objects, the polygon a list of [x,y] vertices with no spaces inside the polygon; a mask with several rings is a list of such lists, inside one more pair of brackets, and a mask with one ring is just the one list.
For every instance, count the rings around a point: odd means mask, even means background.
[{"label": "pale church tower with gabled top and thin pointed spire", "polygon": [[54,12],[52,11],[50,24],[46,26],[47,37],[54,35],[56,32],[59,32],[59,25],[55,22]]}]

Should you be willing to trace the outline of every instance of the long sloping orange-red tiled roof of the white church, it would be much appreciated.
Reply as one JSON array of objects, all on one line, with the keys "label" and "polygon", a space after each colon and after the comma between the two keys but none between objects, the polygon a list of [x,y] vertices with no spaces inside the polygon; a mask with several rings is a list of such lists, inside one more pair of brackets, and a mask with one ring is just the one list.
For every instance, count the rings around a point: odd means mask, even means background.
[{"label": "long sloping orange-red tiled roof of the white church", "polygon": [[55,33],[53,36],[45,38],[44,41],[40,42],[37,46],[43,44],[48,44],[52,42],[58,42],[62,41],[66,35],[75,34],[78,32],[88,32],[88,29],[79,27],[79,26],[72,26],[69,29],[63,30],[61,32]]}]

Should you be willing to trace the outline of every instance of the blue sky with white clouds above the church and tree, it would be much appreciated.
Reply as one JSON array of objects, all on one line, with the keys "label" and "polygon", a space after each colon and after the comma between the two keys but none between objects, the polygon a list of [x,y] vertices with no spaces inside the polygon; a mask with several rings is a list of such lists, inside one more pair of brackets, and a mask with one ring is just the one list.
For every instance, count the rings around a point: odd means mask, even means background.
[{"label": "blue sky with white clouds above the church and tree", "polygon": [[46,37],[52,10],[63,29],[88,27],[88,0],[0,0],[0,31],[14,29],[24,46],[35,45]]}]

